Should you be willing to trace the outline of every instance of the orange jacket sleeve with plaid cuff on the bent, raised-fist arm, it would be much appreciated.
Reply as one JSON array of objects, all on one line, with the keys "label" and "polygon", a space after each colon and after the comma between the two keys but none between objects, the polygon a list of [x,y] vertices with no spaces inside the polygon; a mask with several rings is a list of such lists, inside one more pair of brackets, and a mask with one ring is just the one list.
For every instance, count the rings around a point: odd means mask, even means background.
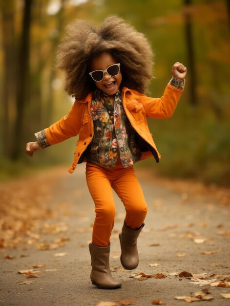
[{"label": "orange jacket sleeve with plaid cuff on the bent, raised-fist arm", "polygon": [[167,84],[164,95],[161,98],[149,98],[141,95],[141,103],[149,118],[170,118],[180,100],[184,89],[184,80],[172,78]]}]

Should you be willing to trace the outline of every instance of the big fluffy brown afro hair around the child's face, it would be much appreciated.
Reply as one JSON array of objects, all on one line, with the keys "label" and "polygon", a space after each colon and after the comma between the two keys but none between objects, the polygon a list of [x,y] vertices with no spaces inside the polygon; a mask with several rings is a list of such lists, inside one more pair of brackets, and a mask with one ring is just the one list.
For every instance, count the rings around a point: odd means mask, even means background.
[{"label": "big fluffy brown afro hair around the child's face", "polygon": [[122,18],[109,16],[99,29],[91,22],[75,20],[57,50],[57,67],[65,72],[65,90],[75,99],[84,99],[95,90],[89,76],[90,62],[109,52],[121,63],[121,86],[144,93],[152,79],[153,53],[144,34]]}]

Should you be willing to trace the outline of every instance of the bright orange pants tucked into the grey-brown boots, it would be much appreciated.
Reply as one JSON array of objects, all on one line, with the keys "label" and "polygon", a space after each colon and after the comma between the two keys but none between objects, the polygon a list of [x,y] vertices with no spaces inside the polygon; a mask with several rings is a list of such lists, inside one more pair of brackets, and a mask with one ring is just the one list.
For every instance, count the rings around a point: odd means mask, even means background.
[{"label": "bright orange pants tucked into the grey-brown boots", "polygon": [[86,163],[86,181],[95,204],[93,244],[101,247],[109,245],[115,218],[112,189],[125,205],[126,226],[135,230],[142,225],[147,214],[147,205],[132,166],[124,168],[120,158],[113,169]]}]

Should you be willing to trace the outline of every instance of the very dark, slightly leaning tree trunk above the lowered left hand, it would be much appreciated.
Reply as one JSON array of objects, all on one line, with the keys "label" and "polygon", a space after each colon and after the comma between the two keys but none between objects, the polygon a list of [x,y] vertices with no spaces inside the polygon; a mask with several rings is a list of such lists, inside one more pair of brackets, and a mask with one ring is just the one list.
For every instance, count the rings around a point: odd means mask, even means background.
[{"label": "very dark, slightly leaning tree trunk above the lowered left hand", "polygon": [[19,46],[16,96],[16,122],[13,137],[12,159],[18,160],[23,144],[23,132],[26,129],[25,107],[29,95],[29,32],[31,23],[32,0],[24,0],[21,43]]}]

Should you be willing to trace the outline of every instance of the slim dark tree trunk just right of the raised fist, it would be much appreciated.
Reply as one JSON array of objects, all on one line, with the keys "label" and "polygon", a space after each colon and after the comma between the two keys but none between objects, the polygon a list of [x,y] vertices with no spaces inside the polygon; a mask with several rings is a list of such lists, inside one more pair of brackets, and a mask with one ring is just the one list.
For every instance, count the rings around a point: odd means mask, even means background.
[{"label": "slim dark tree trunk just right of the raised fist", "polygon": [[[184,0],[184,5],[191,5],[191,0]],[[195,60],[194,60],[194,48],[192,41],[192,22],[191,14],[189,10],[185,12],[185,39],[188,52],[188,76],[189,76],[189,97],[190,104],[197,105],[196,96],[196,72],[195,72]]]}]

